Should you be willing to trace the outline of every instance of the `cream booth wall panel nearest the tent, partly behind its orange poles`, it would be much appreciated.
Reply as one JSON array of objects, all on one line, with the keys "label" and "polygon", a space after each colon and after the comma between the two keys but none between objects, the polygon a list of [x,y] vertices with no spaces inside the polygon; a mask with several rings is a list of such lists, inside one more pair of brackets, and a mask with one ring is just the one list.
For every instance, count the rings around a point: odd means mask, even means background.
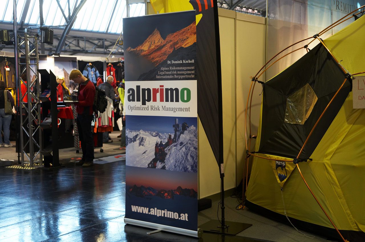
[{"label": "cream booth wall panel nearest the tent, partly behind its orange poles", "polygon": [[[237,13],[238,19],[236,21],[236,68],[237,68],[237,184],[243,177],[243,167],[245,166],[246,144],[245,144],[245,111],[247,94],[249,92],[251,78],[258,70],[265,64],[266,54],[266,25],[263,17],[252,16],[248,21],[250,15]],[[261,20],[255,23],[254,20]],[[260,78],[265,80],[265,75]],[[262,86],[256,83],[254,95],[252,100],[251,111],[251,135],[257,135],[258,123],[260,118],[260,106]],[[248,119],[248,117],[247,117]],[[247,135],[249,135],[249,126],[247,122]],[[255,140],[251,144],[254,148]]]}]

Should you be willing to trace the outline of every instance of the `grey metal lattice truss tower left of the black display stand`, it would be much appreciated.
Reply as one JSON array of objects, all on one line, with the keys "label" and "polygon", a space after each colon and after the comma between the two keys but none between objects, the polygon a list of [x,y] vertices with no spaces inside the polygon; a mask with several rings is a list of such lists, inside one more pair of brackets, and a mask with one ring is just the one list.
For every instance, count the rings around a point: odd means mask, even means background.
[{"label": "grey metal lattice truss tower left of the black display stand", "polygon": [[[22,166],[29,163],[30,167],[42,164],[42,129],[41,122],[41,101],[40,101],[40,80],[38,73],[38,40],[39,36],[18,35],[18,83],[17,89],[17,118],[18,118],[18,156],[21,157]],[[21,76],[26,73],[27,80]],[[22,95],[21,86],[25,84],[27,92]],[[27,102],[23,102],[23,99]]]}]

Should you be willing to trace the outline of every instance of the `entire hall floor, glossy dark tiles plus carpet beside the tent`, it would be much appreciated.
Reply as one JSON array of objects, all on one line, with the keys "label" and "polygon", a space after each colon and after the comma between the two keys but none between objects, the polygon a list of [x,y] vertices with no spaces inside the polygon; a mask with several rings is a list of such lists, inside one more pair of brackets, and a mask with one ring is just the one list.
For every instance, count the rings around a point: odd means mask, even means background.
[{"label": "entire hall floor, glossy dark tiles plus carpet beside the tent", "polygon": [[[98,157],[123,152],[116,149],[116,135],[111,135],[115,142],[106,144]],[[60,154],[80,156],[72,149]],[[50,170],[5,168],[0,162],[0,242],[198,241],[165,232],[147,235],[150,229],[124,224],[125,160],[82,168],[69,158],[64,159],[68,162],[64,167]],[[199,225],[216,219],[217,205],[215,201],[211,209],[199,212]],[[226,219],[253,226],[239,237],[205,233],[199,242],[326,241],[304,237],[292,227],[249,210],[235,210],[236,205],[236,199],[226,199]]]}]

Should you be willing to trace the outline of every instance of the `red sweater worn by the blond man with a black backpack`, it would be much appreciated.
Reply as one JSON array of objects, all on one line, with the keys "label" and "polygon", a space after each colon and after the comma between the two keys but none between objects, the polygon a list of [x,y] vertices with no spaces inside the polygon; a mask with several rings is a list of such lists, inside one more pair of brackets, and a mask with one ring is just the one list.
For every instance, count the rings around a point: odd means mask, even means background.
[{"label": "red sweater worn by the blond man with a black backpack", "polygon": [[88,79],[84,83],[81,83],[78,87],[78,103],[76,105],[76,112],[78,114],[93,114],[92,106],[95,98],[95,87]]}]

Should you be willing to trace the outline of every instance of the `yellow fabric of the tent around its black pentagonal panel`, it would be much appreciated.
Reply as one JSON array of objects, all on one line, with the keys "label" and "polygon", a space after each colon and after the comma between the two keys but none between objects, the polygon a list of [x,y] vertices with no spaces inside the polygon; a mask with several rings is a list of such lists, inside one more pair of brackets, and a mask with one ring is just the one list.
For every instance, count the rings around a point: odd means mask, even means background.
[{"label": "yellow fabric of the tent around its black pentagonal panel", "polygon": [[[365,71],[365,17],[354,21],[324,43],[351,74]],[[261,107],[262,113],[262,107]],[[260,119],[261,120],[261,119]],[[260,145],[261,123],[256,140]],[[315,131],[314,131],[315,132]],[[324,134],[311,158],[299,163],[313,193],[340,230],[365,232],[365,110],[352,108],[352,92]],[[274,158],[271,157],[271,158]],[[281,159],[277,157],[276,159]],[[280,185],[268,160],[254,158],[247,200],[284,215]],[[284,186],[289,217],[333,228],[297,169]]]}]

